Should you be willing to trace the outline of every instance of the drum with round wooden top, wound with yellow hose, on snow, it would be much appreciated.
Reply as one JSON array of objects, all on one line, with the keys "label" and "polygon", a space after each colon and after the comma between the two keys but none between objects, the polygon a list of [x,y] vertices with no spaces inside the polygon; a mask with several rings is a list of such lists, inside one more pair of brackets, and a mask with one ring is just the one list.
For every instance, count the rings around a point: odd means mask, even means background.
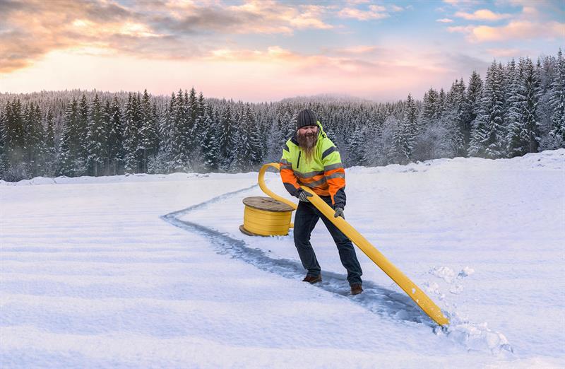
[{"label": "drum with round wooden top, wound with yellow hose, on snow", "polygon": [[270,197],[246,197],[243,224],[239,230],[246,235],[287,235],[290,228],[291,206]]}]

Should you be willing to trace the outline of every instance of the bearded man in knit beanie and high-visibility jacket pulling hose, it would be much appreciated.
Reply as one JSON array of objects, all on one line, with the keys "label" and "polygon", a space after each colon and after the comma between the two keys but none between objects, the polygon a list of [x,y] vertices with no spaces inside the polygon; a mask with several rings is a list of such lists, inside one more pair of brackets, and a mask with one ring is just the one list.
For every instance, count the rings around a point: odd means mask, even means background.
[{"label": "bearded man in knit beanie and high-visibility jacket pulling hose", "polygon": [[309,109],[299,112],[296,134],[287,141],[280,159],[280,177],[287,191],[298,197],[299,204],[295,215],[295,246],[307,275],[304,282],[317,283],[322,280],[321,268],[310,243],[310,235],[319,218],[335,241],[341,264],[347,269],[347,281],[352,295],[362,293],[361,266],[357,261],[355,248],[350,239],[311,204],[300,185],[314,191],[326,204],[335,210],[334,217],[344,218],[345,208],[345,170],[340,153],[324,133],[322,125]]}]

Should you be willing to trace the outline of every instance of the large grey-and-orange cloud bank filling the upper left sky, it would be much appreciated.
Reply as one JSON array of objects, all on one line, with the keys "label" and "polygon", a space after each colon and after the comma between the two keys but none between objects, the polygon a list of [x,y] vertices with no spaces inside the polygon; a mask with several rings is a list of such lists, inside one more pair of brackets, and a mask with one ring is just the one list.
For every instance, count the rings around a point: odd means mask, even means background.
[{"label": "large grey-and-orange cloud bank filling the upper left sky", "polygon": [[[0,73],[30,66],[57,49],[90,54],[124,52],[157,59],[194,58],[225,44],[222,35],[327,30],[331,6],[274,0],[0,0]],[[106,50],[102,50],[102,49]]]}]

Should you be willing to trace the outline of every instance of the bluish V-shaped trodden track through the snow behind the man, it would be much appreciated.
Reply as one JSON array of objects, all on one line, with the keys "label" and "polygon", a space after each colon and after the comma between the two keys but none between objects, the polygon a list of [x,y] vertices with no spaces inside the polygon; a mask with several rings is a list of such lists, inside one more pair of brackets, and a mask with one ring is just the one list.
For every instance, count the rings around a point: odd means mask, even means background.
[{"label": "bluish V-shaped trodden track through the snow behind the man", "polygon": [[[253,185],[233,192],[227,192],[208,201],[204,201],[201,204],[196,204],[189,206],[186,209],[165,214],[164,216],[161,216],[161,218],[179,228],[198,233],[208,238],[210,242],[215,245],[215,250],[218,254],[229,254],[234,259],[242,260],[256,266],[258,269],[278,274],[285,278],[302,279],[304,276],[304,268],[299,262],[289,259],[274,259],[263,250],[247,245],[244,240],[232,238],[226,233],[218,232],[218,230],[208,228],[198,223],[182,221],[179,219],[180,216],[189,214],[192,211],[206,206],[211,206],[219,201],[228,199],[256,187],[258,187],[258,185]],[[417,322],[426,324],[429,327],[437,327],[437,325],[432,322],[432,320],[425,315],[422,310],[420,310],[420,307],[413,303],[412,300],[403,293],[377,286],[375,283],[370,281],[363,281],[364,293],[361,295],[350,296],[349,289],[344,288],[344,285],[347,286],[345,275],[322,271],[322,276],[323,282],[316,283],[313,286],[319,287],[343,298],[350,298],[350,300],[362,305],[369,311],[378,315],[386,316],[393,320]]]}]

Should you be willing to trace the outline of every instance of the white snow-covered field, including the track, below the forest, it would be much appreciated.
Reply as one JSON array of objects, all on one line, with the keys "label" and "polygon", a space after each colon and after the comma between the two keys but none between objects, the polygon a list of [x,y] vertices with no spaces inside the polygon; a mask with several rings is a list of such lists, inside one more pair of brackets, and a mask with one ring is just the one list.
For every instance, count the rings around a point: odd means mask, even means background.
[{"label": "white snow-covered field, including the track, below the forest", "polygon": [[359,250],[350,296],[321,222],[314,286],[292,237],[239,233],[256,173],[35,178],[0,181],[0,366],[565,366],[565,149],[346,175],[347,221],[448,328]]}]

